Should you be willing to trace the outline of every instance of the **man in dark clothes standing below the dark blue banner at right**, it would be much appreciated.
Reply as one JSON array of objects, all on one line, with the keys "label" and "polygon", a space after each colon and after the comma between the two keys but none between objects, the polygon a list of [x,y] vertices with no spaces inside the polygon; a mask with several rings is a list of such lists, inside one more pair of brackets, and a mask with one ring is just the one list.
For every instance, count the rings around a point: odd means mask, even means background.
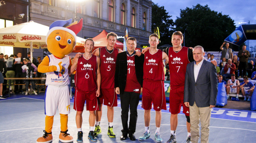
[{"label": "man in dark clothes standing below the dark blue banner at right", "polygon": [[239,57],[239,77],[245,76],[246,67],[248,63],[248,57],[250,57],[249,51],[246,50],[246,45],[243,45],[242,50],[238,51],[237,56]]}]

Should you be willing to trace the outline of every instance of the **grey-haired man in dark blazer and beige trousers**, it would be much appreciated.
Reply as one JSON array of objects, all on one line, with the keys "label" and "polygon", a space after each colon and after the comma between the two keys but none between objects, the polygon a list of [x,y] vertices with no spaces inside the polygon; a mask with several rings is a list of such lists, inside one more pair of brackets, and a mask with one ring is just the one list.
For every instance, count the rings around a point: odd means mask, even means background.
[{"label": "grey-haired man in dark blazer and beige trousers", "polygon": [[215,107],[218,93],[216,68],[204,60],[204,48],[193,49],[195,62],[187,65],[184,104],[189,107],[191,142],[199,139],[199,118],[201,122],[201,143],[209,142],[211,109]]}]

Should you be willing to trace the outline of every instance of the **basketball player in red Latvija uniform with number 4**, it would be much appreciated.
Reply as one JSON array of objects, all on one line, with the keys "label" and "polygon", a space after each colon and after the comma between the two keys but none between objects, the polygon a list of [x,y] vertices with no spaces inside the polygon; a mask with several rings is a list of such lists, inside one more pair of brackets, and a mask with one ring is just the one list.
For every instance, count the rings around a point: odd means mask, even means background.
[{"label": "basketball player in red Latvija uniform with number 4", "polygon": [[140,136],[139,140],[145,140],[150,137],[150,110],[152,102],[156,111],[156,142],[162,142],[160,132],[161,125],[161,109],[166,110],[166,101],[164,93],[164,64],[163,60],[169,61],[166,53],[157,49],[159,39],[157,34],[149,36],[150,49],[144,54],[143,65],[143,93],[142,108],[144,109],[145,132]]}]

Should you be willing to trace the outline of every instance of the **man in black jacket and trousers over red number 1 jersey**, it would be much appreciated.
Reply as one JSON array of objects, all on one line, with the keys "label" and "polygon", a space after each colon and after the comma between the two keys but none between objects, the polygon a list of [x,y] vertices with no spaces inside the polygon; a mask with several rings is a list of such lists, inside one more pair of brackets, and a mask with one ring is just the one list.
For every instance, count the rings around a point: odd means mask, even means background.
[{"label": "man in black jacket and trousers over red number 1 jersey", "polygon": [[[119,53],[116,59],[115,88],[116,94],[120,94],[122,136],[121,140],[129,138],[136,140],[134,132],[137,123],[137,107],[143,83],[143,63],[144,55],[135,55],[137,41],[134,37],[129,37],[126,41],[127,51]],[[128,128],[128,113],[130,107],[130,122]]]}]

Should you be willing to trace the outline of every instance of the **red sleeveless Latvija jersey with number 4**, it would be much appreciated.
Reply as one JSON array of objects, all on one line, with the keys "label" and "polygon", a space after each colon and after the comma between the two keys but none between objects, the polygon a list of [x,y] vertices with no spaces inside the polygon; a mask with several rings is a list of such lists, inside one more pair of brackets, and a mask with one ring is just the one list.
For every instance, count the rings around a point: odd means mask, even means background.
[{"label": "red sleeveless Latvija jersey with number 4", "polygon": [[143,79],[159,81],[164,80],[163,51],[157,50],[155,54],[150,54],[148,50],[144,55]]}]

